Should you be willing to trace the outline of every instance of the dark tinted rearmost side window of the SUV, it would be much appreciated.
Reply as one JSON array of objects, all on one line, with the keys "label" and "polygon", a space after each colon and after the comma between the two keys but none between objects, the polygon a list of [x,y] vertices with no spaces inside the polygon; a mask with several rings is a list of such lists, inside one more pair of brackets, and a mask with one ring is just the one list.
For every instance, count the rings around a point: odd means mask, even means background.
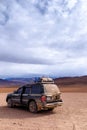
[{"label": "dark tinted rearmost side window of the SUV", "polygon": [[43,93],[43,87],[41,85],[32,85],[31,94],[41,94]]}]

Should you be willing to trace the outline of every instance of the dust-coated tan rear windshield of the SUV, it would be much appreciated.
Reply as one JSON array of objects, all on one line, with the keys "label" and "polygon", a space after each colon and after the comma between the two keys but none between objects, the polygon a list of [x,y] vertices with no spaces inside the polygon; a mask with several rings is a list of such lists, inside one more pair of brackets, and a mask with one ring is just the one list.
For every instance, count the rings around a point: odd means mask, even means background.
[{"label": "dust-coated tan rear windshield of the SUV", "polygon": [[44,84],[45,93],[60,93],[59,88],[55,84]]}]

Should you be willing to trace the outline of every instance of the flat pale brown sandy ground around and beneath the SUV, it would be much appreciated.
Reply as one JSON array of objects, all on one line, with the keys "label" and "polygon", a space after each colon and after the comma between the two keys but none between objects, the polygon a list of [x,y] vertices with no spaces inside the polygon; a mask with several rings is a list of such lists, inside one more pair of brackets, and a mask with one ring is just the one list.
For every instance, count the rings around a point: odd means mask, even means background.
[{"label": "flat pale brown sandy ground around and beneath the SUV", "polygon": [[8,108],[6,95],[0,93],[0,130],[87,130],[87,93],[63,93],[63,106],[38,114]]}]

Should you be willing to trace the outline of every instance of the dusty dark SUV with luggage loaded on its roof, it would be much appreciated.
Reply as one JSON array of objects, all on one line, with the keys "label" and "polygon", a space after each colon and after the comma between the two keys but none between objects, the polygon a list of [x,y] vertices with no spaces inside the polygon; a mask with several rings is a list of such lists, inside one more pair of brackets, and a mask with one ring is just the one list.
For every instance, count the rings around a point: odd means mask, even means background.
[{"label": "dusty dark SUV with luggage loaded on its roof", "polygon": [[6,102],[8,107],[27,106],[30,112],[36,113],[40,110],[53,110],[62,105],[60,94],[58,86],[51,78],[40,78],[38,82],[26,84],[8,94]]}]

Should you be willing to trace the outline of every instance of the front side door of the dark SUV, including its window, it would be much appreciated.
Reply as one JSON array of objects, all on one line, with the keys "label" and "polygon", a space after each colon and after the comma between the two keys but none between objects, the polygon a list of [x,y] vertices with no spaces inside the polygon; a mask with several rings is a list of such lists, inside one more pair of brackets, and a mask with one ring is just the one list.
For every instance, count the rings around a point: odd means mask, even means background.
[{"label": "front side door of the dark SUV, including its window", "polygon": [[13,96],[12,96],[12,101],[15,103],[15,104],[21,104],[21,97],[22,97],[22,93],[23,93],[23,87],[19,88],[17,91],[15,91],[13,93]]}]

